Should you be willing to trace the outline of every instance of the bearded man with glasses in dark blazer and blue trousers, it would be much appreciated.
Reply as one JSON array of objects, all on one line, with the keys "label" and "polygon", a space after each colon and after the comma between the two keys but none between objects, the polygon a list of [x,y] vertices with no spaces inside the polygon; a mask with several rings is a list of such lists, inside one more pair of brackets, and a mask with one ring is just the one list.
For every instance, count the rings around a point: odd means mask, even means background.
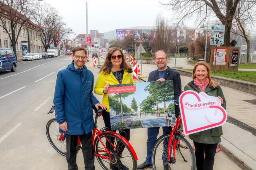
[{"label": "bearded man with glasses in dark blazer and blue trousers", "polygon": [[[174,86],[174,107],[175,107],[175,115],[178,118],[180,114],[179,109],[179,97],[181,94],[181,80],[180,74],[167,66],[168,58],[167,54],[164,50],[158,50],[155,53],[155,63],[158,67],[157,70],[150,72],[148,76],[148,82],[160,81],[163,82],[165,80],[173,80]],[[156,143],[156,137],[159,133],[159,127],[150,127],[148,128],[148,140],[147,140],[147,157],[146,161],[140,165],[138,165],[138,170],[144,170],[146,168],[152,168],[151,156],[152,149],[154,144]],[[172,131],[172,127],[163,127],[163,133],[170,133]],[[163,160],[164,170],[169,170],[168,160]]]}]

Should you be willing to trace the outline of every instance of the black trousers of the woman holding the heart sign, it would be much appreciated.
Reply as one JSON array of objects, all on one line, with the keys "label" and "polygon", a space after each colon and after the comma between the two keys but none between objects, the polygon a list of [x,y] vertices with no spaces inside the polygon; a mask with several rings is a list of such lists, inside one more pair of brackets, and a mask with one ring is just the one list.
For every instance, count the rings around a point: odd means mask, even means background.
[{"label": "black trousers of the woman holding the heart sign", "polygon": [[195,141],[195,155],[196,155],[196,169],[197,170],[212,170],[214,164],[214,156],[216,153],[217,145],[197,143]]}]

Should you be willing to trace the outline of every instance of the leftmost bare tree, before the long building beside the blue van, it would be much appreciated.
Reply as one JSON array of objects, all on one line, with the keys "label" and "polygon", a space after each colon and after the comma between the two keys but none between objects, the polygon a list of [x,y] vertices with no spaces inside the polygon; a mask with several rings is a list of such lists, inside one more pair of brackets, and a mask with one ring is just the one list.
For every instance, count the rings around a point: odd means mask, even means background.
[{"label": "leftmost bare tree, before the long building beside the blue van", "polygon": [[0,26],[8,34],[16,58],[16,43],[20,30],[32,14],[29,6],[34,5],[32,0],[0,0]]}]

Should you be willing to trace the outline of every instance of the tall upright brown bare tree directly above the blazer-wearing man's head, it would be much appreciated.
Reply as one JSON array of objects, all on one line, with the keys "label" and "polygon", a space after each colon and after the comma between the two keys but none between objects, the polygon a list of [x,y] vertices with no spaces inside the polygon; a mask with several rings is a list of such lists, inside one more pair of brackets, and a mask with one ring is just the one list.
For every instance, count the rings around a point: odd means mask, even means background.
[{"label": "tall upright brown bare tree directly above the blazer-wearing man's head", "polygon": [[168,51],[170,48],[170,41],[172,35],[169,33],[168,21],[165,20],[162,14],[158,14],[156,17],[156,35],[154,36],[154,43],[152,44],[156,50]]}]

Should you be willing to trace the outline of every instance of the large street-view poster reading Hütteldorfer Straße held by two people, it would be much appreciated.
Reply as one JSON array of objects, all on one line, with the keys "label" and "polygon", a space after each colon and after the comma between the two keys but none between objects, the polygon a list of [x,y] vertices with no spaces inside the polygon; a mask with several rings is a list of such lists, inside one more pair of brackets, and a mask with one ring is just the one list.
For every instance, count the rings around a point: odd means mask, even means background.
[{"label": "large street-view poster reading H\u00fctteldorfer Stra\u00dfe held by two people", "polygon": [[166,126],[175,113],[172,80],[110,85],[108,101],[112,130]]}]

